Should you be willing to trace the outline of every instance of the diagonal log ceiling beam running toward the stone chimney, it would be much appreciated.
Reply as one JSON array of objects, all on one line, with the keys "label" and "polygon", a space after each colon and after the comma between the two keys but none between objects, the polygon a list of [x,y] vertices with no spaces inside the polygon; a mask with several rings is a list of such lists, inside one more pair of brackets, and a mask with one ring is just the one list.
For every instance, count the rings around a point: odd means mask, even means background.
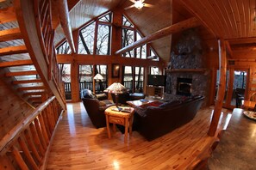
[{"label": "diagonal log ceiling beam running toward the stone chimney", "polygon": [[136,42],[134,42],[133,44],[129,45],[129,46],[125,46],[122,49],[116,51],[116,54],[122,54],[124,52],[128,52],[138,46],[143,46],[149,42],[152,42],[153,40],[156,39],[160,39],[163,38],[167,35],[170,35],[172,33],[178,33],[183,31],[184,29],[190,28],[190,27],[197,27],[201,25],[201,22],[197,20],[196,17],[192,17],[188,20],[185,21],[180,21],[176,24],[173,24],[172,26],[169,27],[165,27],[155,33],[152,33],[151,35],[147,35],[146,37],[137,40]]}]

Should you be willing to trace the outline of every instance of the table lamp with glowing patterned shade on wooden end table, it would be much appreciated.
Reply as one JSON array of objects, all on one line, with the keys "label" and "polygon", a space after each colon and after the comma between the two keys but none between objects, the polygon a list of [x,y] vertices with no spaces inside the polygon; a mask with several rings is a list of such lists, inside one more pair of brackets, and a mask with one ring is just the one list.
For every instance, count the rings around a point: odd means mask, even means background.
[{"label": "table lamp with glowing patterned shade on wooden end table", "polygon": [[119,111],[122,110],[122,108],[118,107],[118,94],[123,94],[127,92],[127,89],[119,82],[114,82],[109,86],[109,88],[106,88],[104,92],[108,92],[110,94],[115,94],[116,97],[116,107],[118,108]]}]

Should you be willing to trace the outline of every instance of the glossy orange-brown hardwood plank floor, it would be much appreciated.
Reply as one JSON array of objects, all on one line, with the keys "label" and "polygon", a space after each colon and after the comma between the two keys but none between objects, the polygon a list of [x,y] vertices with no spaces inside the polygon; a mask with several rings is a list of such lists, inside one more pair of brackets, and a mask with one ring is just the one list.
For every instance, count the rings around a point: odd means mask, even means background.
[{"label": "glossy orange-brown hardwood plank floor", "polygon": [[[47,169],[185,169],[215,141],[207,136],[211,113],[211,107],[202,109],[190,123],[152,142],[134,131],[123,143],[120,131],[109,139],[106,128],[96,129],[81,102],[69,103]],[[230,113],[222,113],[218,129],[227,125]]]}]

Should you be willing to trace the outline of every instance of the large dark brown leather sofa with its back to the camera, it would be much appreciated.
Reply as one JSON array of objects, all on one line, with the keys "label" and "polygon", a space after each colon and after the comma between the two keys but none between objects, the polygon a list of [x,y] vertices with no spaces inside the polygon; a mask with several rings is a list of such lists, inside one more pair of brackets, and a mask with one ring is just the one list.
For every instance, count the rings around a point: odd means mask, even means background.
[{"label": "large dark brown leather sofa with its back to the camera", "polygon": [[134,129],[151,141],[192,120],[203,103],[203,96],[166,102],[160,106],[136,107]]}]

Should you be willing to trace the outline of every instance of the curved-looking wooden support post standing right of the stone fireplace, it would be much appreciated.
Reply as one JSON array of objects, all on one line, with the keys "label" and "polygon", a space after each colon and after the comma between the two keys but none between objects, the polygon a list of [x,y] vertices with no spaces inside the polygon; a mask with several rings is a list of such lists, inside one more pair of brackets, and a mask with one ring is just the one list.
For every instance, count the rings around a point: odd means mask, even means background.
[{"label": "curved-looking wooden support post standing right of the stone fireplace", "polygon": [[226,48],[225,48],[224,39],[219,39],[218,44],[219,44],[220,83],[219,83],[217,97],[215,100],[215,110],[209,126],[209,131],[208,131],[208,135],[210,137],[214,137],[215,132],[217,130],[217,126],[218,126],[219,119],[222,112],[222,104],[223,104],[225,88],[226,88],[227,58],[226,58]]}]

